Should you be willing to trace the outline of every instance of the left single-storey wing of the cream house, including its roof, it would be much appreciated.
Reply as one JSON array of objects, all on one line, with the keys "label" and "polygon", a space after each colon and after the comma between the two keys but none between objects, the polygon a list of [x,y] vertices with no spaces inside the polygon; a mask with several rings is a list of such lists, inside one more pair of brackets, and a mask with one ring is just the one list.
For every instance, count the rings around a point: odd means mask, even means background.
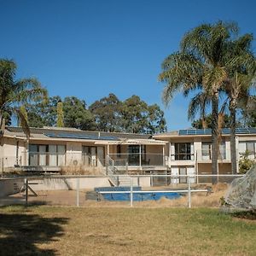
[{"label": "left single-storey wing of the cream house, including its roof", "polygon": [[150,135],[81,131],[75,128],[31,128],[29,139],[20,127],[7,127],[1,138],[2,171],[60,171],[63,166],[86,166],[103,173],[166,169],[166,142]]}]

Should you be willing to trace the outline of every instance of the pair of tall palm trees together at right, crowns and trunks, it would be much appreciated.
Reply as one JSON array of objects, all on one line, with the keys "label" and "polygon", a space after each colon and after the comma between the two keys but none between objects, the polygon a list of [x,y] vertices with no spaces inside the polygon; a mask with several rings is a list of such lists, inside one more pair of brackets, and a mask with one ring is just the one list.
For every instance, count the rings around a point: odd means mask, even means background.
[{"label": "pair of tall palm trees together at right, crowns and trunks", "polygon": [[[189,118],[201,112],[205,127],[205,110],[212,104],[212,173],[218,170],[219,129],[224,112],[219,112],[219,95],[226,93],[230,108],[230,143],[232,172],[236,173],[236,108],[241,98],[247,96],[255,76],[255,58],[251,51],[253,37],[246,34],[238,38],[234,23],[218,21],[202,24],[186,33],[180,50],[169,55],[162,64],[159,79],[166,83],[163,101],[168,104],[175,92],[181,90],[188,96],[191,90],[200,90],[189,105]],[[235,164],[234,164],[235,163]],[[212,178],[212,183],[217,179]]]}]

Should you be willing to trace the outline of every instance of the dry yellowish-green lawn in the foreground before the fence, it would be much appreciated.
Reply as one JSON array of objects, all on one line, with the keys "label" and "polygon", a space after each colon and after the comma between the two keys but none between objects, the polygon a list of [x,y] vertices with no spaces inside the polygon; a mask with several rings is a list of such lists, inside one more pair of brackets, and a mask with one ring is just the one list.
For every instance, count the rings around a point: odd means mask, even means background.
[{"label": "dry yellowish-green lawn in the foreground before the fence", "polygon": [[218,209],[1,207],[1,255],[256,255],[256,221]]}]

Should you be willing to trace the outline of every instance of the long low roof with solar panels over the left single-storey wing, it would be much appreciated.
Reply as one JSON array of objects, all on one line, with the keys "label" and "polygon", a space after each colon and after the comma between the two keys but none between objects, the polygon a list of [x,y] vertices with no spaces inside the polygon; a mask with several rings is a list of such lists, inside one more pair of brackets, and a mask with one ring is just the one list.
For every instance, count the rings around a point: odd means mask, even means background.
[{"label": "long low roof with solar panels over the left single-storey wing", "polygon": [[[149,134],[134,134],[121,132],[106,132],[106,131],[82,131],[75,128],[60,128],[60,127],[44,127],[44,128],[30,128],[31,139],[49,139],[49,138],[63,138],[63,139],[78,139],[78,140],[100,140],[100,141],[121,141],[124,139],[149,139]],[[21,127],[7,127],[5,135],[26,137]]]}]

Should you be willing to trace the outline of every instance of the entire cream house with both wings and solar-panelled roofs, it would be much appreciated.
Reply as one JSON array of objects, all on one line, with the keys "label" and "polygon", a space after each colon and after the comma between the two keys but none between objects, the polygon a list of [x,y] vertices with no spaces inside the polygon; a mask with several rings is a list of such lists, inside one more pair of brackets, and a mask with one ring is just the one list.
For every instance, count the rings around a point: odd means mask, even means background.
[{"label": "entire cream house with both wings and solar-panelled roofs", "polygon": [[[256,128],[236,130],[237,160],[248,153],[256,158]],[[7,127],[1,138],[0,170],[59,172],[68,166],[93,168],[115,174],[172,174],[154,177],[154,183],[211,182],[210,129],[189,129],[142,135],[81,131],[74,128],[31,128],[29,139],[20,127]],[[237,161],[238,164],[238,161]],[[231,174],[230,129],[223,129],[219,144],[218,174]],[[175,177],[176,176],[176,177]],[[219,181],[226,181],[219,177]]]}]

